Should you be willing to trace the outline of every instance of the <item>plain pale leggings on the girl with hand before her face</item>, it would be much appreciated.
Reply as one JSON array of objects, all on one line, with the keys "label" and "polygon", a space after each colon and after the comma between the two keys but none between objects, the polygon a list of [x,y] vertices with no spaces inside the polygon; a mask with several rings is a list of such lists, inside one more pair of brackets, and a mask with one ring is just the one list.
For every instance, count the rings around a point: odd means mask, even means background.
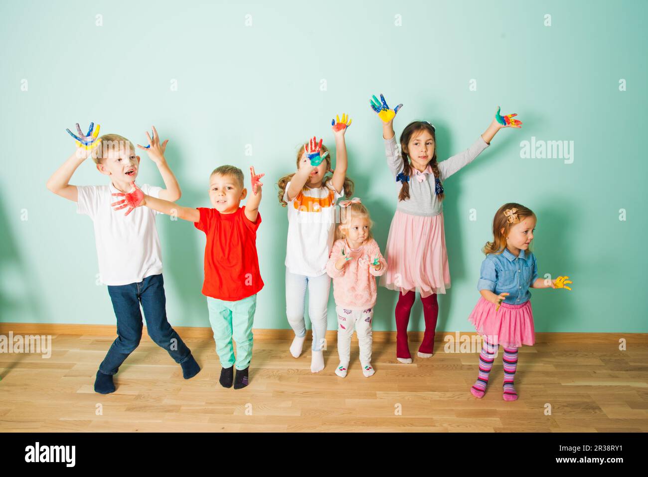
[{"label": "plain pale leggings on the girl with hand before her face", "polygon": [[306,335],[304,300],[308,286],[308,317],[313,326],[312,350],[320,351],[326,338],[330,276],[295,275],[286,268],[286,316],[295,336]]}]

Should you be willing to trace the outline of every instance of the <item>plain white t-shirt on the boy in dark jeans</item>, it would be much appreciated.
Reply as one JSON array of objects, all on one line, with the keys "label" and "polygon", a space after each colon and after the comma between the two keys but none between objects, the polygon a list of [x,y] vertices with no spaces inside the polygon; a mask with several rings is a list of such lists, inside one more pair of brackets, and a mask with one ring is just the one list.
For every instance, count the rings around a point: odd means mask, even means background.
[{"label": "plain white t-shirt on the boy in dark jeans", "polygon": [[[95,241],[99,276],[106,285],[128,285],[150,275],[162,273],[162,253],[157,237],[156,215],[148,207],[113,210],[112,202],[122,199],[113,184],[109,186],[76,186],[77,214],[89,215],[95,224]],[[141,190],[158,197],[161,187],[144,184]]]}]

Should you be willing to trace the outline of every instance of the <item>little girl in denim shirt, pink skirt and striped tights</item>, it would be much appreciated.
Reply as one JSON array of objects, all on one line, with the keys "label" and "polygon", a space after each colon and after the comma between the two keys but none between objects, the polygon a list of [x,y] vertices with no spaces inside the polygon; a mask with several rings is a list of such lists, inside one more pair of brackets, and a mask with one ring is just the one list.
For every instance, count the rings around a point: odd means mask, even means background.
[{"label": "little girl in denim shirt, pink skirt and striped tights", "polygon": [[538,278],[535,256],[529,251],[533,240],[536,217],[529,208],[509,202],[495,214],[492,221],[493,241],[483,249],[486,258],[481,263],[481,293],[469,321],[483,337],[480,353],[480,371],[477,381],[470,388],[475,397],[486,392],[489,373],[499,345],[504,349],[503,398],[518,398],[513,378],[518,363],[518,348],[533,346],[533,313],[531,311],[531,288],[567,288],[568,276],[555,280]]}]

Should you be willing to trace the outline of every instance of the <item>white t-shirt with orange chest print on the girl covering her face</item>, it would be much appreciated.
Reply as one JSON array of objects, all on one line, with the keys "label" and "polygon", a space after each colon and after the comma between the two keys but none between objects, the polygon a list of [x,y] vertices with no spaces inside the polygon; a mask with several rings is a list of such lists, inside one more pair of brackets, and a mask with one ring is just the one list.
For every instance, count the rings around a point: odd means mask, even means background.
[{"label": "white t-shirt with orange chest print on the girl covering her face", "polygon": [[342,197],[330,182],[318,189],[304,188],[288,201],[288,241],[286,267],[290,273],[319,276],[326,273],[330,247],[335,234],[335,201]]}]

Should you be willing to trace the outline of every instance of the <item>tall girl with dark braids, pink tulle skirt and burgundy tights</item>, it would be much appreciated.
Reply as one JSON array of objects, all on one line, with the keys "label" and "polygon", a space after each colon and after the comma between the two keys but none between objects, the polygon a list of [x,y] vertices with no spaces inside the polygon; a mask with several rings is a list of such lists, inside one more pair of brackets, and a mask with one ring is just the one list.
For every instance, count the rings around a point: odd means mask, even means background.
[{"label": "tall girl with dark braids, pink tulle skirt and burgundy tights", "polygon": [[[434,352],[434,335],[439,314],[438,293],[450,287],[450,267],[443,229],[442,183],[470,164],[486,149],[496,132],[504,127],[520,127],[511,116],[500,116],[465,151],[437,162],[435,128],[427,121],[410,123],[396,142],[393,119],[400,106],[389,109],[384,97],[373,97],[372,107],[382,120],[387,164],[396,178],[399,197],[396,214],[389,227],[386,258],[389,268],[380,285],[399,292],[396,305],[396,358],[411,363],[407,328],[410,311],[418,292],[423,303],[425,333],[419,358]],[[498,119],[499,118],[499,119]],[[508,119],[508,121],[506,120]]]}]

